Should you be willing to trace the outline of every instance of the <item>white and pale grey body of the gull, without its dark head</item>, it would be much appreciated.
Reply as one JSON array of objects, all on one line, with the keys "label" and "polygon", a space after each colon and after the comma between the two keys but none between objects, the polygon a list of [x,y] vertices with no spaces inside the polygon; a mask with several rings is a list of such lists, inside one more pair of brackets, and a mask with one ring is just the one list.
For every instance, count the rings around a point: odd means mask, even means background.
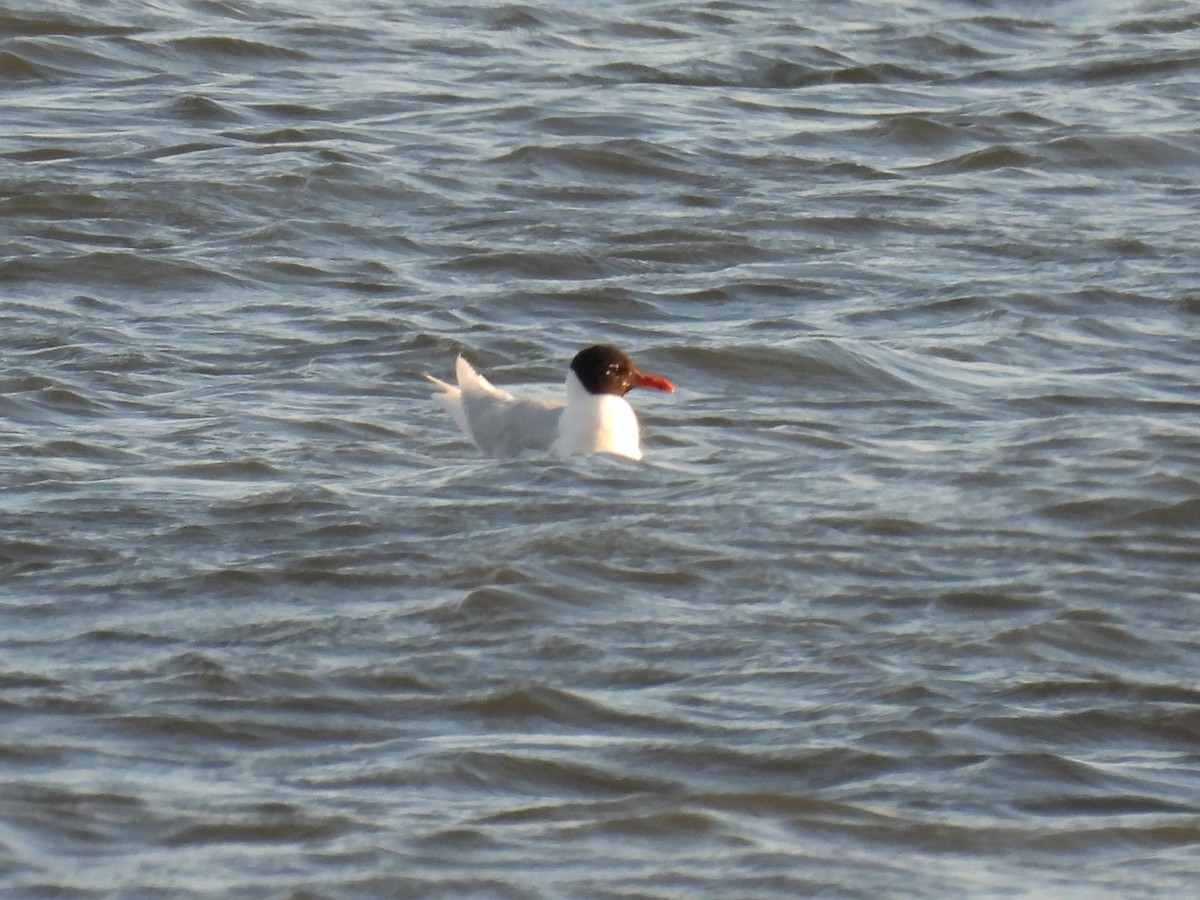
[{"label": "white and pale grey body of the gull, without its dark head", "polygon": [[492,385],[467,360],[455,365],[458,385],[426,376],[438,391],[433,398],[450,413],[462,433],[490,456],[523,450],[613,454],[642,458],[634,408],[614,394],[589,394],[575,372],[566,373],[566,403],[518,400]]}]

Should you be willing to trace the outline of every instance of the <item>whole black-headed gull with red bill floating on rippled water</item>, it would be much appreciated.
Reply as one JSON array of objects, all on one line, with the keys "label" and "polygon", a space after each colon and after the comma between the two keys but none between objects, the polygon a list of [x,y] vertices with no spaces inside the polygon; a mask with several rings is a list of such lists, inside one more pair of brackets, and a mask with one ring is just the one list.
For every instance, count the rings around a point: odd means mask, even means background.
[{"label": "whole black-headed gull with red bill floating on rippled water", "polygon": [[625,400],[634,388],[674,392],[661,376],[643,374],[616,347],[580,350],[566,372],[566,403],[517,400],[458,356],[458,386],[425,376],[438,390],[433,400],[454,416],[462,433],[490,456],[523,450],[571,454],[616,454],[642,458],[637,416]]}]

